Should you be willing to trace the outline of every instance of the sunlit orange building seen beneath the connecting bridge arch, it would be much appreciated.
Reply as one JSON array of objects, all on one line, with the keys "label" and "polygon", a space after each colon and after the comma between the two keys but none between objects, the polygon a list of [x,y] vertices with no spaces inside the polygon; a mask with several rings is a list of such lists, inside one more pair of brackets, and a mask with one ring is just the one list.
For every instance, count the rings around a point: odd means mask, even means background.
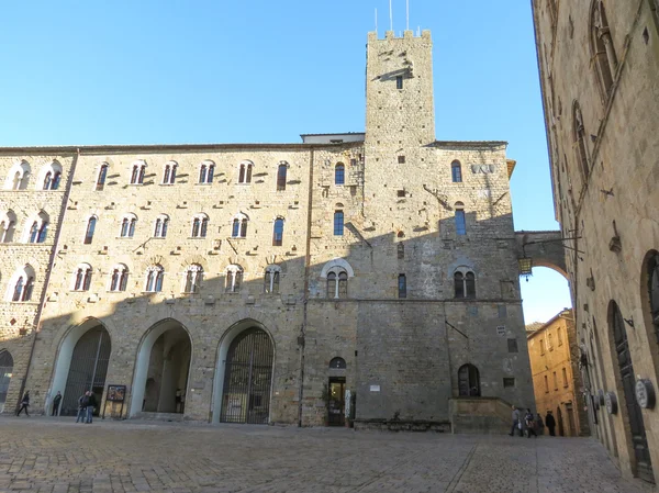
[{"label": "sunlit orange building seen beneath the connecting bridge arch", "polygon": [[554,414],[559,436],[589,436],[572,311],[563,310],[539,327],[526,328],[537,412],[543,417]]}]

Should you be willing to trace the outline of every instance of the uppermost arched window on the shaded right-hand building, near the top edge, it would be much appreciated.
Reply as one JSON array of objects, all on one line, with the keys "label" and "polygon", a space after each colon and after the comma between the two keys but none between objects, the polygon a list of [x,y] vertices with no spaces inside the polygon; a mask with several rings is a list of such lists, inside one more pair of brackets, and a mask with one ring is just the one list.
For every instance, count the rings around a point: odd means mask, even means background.
[{"label": "uppermost arched window on the shaded right-hand building, near the top edge", "polygon": [[591,13],[591,49],[592,57],[597,66],[600,86],[605,97],[611,94],[615,71],[617,70],[617,57],[615,46],[611,37],[608,21],[604,2],[597,0]]}]

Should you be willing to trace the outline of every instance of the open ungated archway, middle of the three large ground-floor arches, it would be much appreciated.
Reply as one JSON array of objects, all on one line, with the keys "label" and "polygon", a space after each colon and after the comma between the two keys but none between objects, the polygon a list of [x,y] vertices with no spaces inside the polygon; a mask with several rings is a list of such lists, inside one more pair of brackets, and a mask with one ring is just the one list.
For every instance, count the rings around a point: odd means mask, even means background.
[{"label": "open ungated archway, middle of the three large ground-floor arches", "polygon": [[179,322],[154,325],[137,352],[131,416],[141,412],[183,414],[191,359],[192,341]]}]

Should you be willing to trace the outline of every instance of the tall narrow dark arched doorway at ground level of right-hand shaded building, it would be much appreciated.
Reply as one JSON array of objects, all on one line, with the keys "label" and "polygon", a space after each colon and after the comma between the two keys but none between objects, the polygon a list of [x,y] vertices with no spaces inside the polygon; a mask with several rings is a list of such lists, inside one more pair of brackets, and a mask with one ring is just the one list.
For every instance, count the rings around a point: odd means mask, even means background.
[{"label": "tall narrow dark arched doorway at ground level of right-hand shaded building", "polygon": [[627,429],[632,434],[632,448],[634,449],[636,459],[635,473],[640,479],[654,483],[655,475],[652,473],[652,462],[650,460],[643,413],[640,412],[638,402],[636,402],[636,373],[634,373],[632,354],[629,352],[627,329],[621,310],[615,301],[608,304],[608,325],[615,348],[614,356],[617,357],[618,362],[616,373],[618,382],[623,386],[626,417],[629,421],[629,428]]}]

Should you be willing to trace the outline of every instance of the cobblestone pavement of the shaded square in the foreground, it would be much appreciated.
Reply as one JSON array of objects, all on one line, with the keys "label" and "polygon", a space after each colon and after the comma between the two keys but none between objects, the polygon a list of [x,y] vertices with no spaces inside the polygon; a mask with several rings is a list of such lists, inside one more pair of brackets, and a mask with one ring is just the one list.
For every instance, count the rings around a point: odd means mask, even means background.
[{"label": "cobblestone pavement of the shaded square in the foreground", "polygon": [[593,439],[0,417],[0,492],[647,491]]}]

